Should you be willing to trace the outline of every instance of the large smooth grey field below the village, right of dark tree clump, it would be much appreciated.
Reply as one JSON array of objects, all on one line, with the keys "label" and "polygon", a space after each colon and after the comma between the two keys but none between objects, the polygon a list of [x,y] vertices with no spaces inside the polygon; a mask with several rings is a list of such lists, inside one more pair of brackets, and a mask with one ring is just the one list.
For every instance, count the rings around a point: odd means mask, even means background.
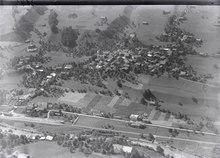
[{"label": "large smooth grey field below the village, right of dark tree clump", "polygon": [[[155,96],[162,99],[161,108],[169,109],[173,112],[182,112],[191,117],[215,117],[213,113],[218,112],[218,91],[219,87],[204,87],[203,84],[195,83],[183,79],[172,79],[166,76],[157,78],[141,76],[145,82],[143,88],[150,89]],[[198,103],[193,102],[192,97],[197,98]],[[179,105],[179,102],[183,106]]]}]

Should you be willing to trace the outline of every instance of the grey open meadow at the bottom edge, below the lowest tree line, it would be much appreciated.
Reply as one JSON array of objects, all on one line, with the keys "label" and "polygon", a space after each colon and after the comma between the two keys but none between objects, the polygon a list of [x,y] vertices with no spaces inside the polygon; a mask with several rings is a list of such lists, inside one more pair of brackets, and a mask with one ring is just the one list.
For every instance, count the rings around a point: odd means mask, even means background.
[{"label": "grey open meadow at the bottom edge, below the lowest tree line", "polygon": [[[45,150],[46,149],[46,150]],[[37,142],[32,144],[23,145],[20,147],[16,147],[15,150],[26,153],[31,157],[39,157],[39,158],[85,158],[83,153],[76,152],[74,154],[70,153],[67,148],[63,148],[58,146],[55,142]],[[116,156],[105,156],[101,154],[92,154],[89,156],[90,158],[116,158]],[[120,158],[122,156],[117,156]]]}]

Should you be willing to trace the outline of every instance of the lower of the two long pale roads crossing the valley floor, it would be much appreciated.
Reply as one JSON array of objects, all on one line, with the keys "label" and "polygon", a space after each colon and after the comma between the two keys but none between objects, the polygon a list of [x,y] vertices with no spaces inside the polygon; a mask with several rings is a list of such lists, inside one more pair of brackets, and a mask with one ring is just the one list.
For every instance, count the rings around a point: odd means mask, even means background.
[{"label": "lower of the two long pale roads crossing the valley floor", "polygon": [[[67,125],[62,124],[60,121],[55,121],[51,119],[44,119],[44,118],[32,118],[32,117],[15,117],[15,116],[3,116],[0,115],[0,119],[2,120],[11,120],[11,121],[18,121],[18,122],[30,122],[30,123],[38,123],[38,124],[48,124],[48,125],[58,125],[58,126],[69,126],[74,128],[84,128],[84,129],[96,129],[96,130],[103,130],[103,131],[113,131],[113,132],[120,132],[123,134],[129,134],[133,138],[139,137],[141,133],[138,132],[130,132],[130,131],[122,131],[122,130],[109,130],[103,128],[96,128],[96,127],[88,127],[88,126],[81,126],[81,125]],[[136,137],[135,137],[136,136]],[[199,144],[209,144],[209,145],[220,145],[220,143],[209,142],[209,141],[201,141],[201,140],[193,140],[193,139],[186,139],[186,138],[176,138],[176,137],[167,137],[162,135],[154,135],[156,140],[159,139],[167,139],[167,140],[178,140],[178,141],[187,141],[187,142],[194,142]]]}]

